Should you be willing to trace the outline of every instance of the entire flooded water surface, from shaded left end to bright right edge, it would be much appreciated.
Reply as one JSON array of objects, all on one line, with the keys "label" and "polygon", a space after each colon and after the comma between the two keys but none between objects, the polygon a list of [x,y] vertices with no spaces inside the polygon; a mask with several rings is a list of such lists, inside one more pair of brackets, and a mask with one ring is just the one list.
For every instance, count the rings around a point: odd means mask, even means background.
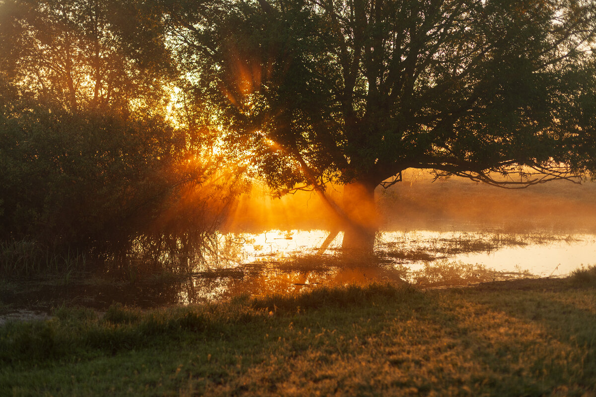
[{"label": "entire flooded water surface, from shaded left end to bright right edge", "polygon": [[[270,230],[218,237],[218,253],[187,257],[185,271],[143,273],[117,280],[86,276],[3,289],[4,313],[48,312],[60,305],[104,310],[112,304],[151,308],[216,301],[237,295],[291,293],[319,285],[411,283],[421,288],[465,286],[524,277],[561,277],[596,264],[596,236],[550,233],[379,233],[373,255],[340,249],[342,233],[320,252],[324,230]],[[190,269],[190,270],[189,270]]]}]

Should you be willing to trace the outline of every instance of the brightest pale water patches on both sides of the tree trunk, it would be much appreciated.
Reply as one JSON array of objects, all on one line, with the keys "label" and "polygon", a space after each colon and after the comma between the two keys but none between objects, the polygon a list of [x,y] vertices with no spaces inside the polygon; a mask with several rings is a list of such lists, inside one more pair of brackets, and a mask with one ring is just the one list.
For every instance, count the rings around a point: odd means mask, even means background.
[{"label": "brightest pale water patches on both sides of the tree trunk", "polygon": [[[242,242],[243,261],[250,263],[269,257],[283,260],[315,254],[327,235],[323,230],[271,230],[229,238]],[[341,242],[342,233],[327,253],[339,251]],[[379,258],[392,258],[395,265],[407,264],[411,270],[420,270],[429,261],[449,258],[501,272],[522,269],[538,277],[563,276],[582,264],[596,263],[596,236],[392,231],[381,233],[375,253]]]}]

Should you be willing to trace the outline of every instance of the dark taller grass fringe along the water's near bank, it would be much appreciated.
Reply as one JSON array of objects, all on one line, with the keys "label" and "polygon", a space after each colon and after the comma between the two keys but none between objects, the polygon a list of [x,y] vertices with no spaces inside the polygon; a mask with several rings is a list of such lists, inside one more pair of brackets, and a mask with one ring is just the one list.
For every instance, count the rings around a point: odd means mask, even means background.
[{"label": "dark taller grass fringe along the water's near bank", "polygon": [[379,299],[396,301],[415,295],[413,290],[371,285],[321,288],[297,296],[275,295],[145,312],[117,304],[101,316],[85,308],[61,307],[50,321],[14,322],[0,328],[0,361],[52,360],[89,348],[111,353],[147,348],[156,340],[171,342],[188,336],[188,333],[229,338],[247,324],[270,318],[269,308],[278,315],[291,315],[300,310],[360,306]]}]

